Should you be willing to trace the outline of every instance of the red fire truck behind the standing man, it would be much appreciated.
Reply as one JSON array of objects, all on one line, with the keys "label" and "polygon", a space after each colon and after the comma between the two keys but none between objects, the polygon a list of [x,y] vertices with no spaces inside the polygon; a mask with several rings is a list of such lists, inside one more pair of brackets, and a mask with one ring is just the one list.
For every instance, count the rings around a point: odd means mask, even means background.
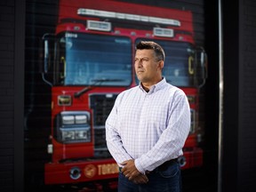
[{"label": "red fire truck behind the standing man", "polygon": [[44,82],[52,86],[52,134],[45,184],[115,179],[105,121],[118,93],[137,85],[134,47],[152,40],[164,47],[166,80],[188,96],[191,130],[183,169],[201,166],[198,95],[206,56],[194,41],[192,13],[114,0],[60,0],[54,35],[44,35]]}]

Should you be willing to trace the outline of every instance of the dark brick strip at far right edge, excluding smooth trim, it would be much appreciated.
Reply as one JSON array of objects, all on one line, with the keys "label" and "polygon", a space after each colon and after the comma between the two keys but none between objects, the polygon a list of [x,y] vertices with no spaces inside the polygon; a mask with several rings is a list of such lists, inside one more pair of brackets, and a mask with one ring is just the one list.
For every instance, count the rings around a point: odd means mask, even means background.
[{"label": "dark brick strip at far right edge, excluding smooth trim", "polygon": [[255,191],[256,180],[256,2],[241,6],[241,91],[238,132],[238,191]]}]

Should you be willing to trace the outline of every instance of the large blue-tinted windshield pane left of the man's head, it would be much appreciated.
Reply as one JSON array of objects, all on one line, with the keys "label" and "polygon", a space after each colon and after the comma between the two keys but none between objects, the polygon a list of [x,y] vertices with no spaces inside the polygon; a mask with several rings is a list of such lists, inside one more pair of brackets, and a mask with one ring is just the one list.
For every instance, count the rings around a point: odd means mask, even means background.
[{"label": "large blue-tinted windshield pane left of the man's head", "polygon": [[62,33],[55,84],[127,86],[132,83],[132,41],[123,36]]}]

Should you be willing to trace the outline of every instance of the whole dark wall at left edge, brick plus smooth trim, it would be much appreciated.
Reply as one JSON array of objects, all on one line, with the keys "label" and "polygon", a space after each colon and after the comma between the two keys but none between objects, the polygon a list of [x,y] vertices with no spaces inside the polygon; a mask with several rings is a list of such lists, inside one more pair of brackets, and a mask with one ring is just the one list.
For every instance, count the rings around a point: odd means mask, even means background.
[{"label": "whole dark wall at left edge, brick plus smooth trim", "polygon": [[25,0],[0,2],[0,190],[22,191]]}]

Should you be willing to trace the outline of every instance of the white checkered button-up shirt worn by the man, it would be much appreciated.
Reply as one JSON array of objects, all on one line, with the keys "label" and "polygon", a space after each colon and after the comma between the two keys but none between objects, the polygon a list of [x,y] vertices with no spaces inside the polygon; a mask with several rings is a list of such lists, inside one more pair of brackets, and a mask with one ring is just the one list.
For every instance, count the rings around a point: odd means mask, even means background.
[{"label": "white checkered button-up shirt worn by the man", "polygon": [[149,92],[138,85],[121,92],[106,121],[108,150],[117,164],[134,159],[145,173],[183,154],[190,128],[188,99],[165,78]]}]

